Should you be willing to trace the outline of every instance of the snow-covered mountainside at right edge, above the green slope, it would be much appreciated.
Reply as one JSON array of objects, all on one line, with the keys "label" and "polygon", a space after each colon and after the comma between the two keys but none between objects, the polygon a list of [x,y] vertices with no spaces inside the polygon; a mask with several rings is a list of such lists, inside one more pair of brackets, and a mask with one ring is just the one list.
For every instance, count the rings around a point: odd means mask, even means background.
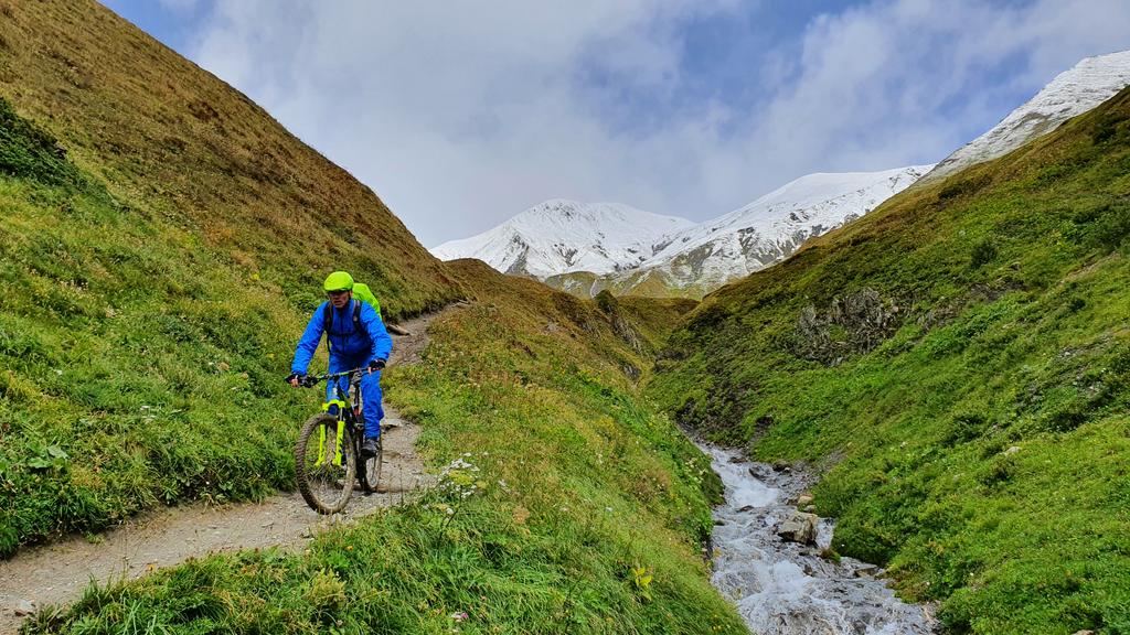
[{"label": "snow-covered mountainside at right edge, above the green slope", "polygon": [[922,181],[948,176],[1006,155],[1094,108],[1127,86],[1130,86],[1130,51],[1087,58],[1057,76],[992,130],[949,155]]}]

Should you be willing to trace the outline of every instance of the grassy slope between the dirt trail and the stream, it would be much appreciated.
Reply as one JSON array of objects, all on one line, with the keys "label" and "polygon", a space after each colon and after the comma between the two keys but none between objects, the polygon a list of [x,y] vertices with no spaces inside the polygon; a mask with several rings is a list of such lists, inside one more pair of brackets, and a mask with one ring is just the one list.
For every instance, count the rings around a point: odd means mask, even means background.
[{"label": "grassy slope between the dirt trail and the stream", "polygon": [[609,312],[478,261],[452,268],[475,303],[385,384],[435,464],[473,468],[304,557],[209,557],[29,630],[744,633],[699,550],[720,484],[641,403],[621,367],[644,360]]}]

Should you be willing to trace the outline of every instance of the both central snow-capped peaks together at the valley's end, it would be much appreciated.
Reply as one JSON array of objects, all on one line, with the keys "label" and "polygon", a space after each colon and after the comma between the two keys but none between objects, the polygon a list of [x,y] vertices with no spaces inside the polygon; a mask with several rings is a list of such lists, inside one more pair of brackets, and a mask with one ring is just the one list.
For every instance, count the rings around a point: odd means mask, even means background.
[{"label": "both central snow-capped peaks together at the valley's end", "polygon": [[788,258],[805,241],[875,209],[933,166],[809,174],[702,224],[616,203],[546,201],[432,250],[477,258],[579,295],[701,296]]}]

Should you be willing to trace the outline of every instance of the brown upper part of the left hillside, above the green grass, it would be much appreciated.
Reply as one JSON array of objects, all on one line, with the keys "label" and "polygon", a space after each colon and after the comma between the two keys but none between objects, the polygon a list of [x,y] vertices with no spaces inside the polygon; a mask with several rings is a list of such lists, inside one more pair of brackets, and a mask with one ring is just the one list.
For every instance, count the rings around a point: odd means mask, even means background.
[{"label": "brown upper part of the left hillside, above the green grass", "polygon": [[0,0],[0,96],[121,202],[287,295],[339,267],[392,316],[458,295],[368,188],[93,0]]}]

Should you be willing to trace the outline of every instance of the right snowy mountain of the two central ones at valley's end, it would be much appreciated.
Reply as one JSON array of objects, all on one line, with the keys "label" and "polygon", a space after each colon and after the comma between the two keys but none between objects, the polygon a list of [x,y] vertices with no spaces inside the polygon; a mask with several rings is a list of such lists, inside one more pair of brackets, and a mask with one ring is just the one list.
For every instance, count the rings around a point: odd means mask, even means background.
[{"label": "right snowy mountain of the two central ones at valley's end", "polygon": [[680,232],[635,270],[612,275],[608,286],[623,292],[659,278],[668,289],[709,292],[784,260],[808,238],[871,211],[932,167],[801,176],[740,209]]}]

